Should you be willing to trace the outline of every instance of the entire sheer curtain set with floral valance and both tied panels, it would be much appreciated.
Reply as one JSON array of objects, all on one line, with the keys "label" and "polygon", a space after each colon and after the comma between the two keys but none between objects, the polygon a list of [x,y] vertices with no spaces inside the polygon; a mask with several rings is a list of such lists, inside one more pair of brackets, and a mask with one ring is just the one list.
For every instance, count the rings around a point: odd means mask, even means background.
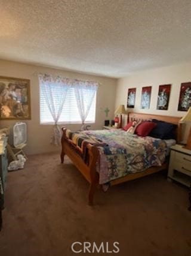
[{"label": "entire sheer curtain set with floral valance and both tied panels", "polygon": [[57,122],[59,121],[66,101],[67,91],[70,88],[74,88],[75,90],[76,104],[79,115],[81,116],[83,127],[85,119],[90,112],[90,108],[98,88],[98,83],[78,79],[68,79],[60,76],[53,77],[48,74],[38,74],[38,77],[41,92],[54,120],[51,144],[60,145],[61,129],[58,127]]}]

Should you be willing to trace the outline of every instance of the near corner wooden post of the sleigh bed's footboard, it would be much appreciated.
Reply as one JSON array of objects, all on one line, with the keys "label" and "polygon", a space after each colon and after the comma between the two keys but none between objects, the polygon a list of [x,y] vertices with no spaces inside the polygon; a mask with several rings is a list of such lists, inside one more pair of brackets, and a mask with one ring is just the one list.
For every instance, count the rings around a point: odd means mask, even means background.
[{"label": "near corner wooden post of the sleigh bed's footboard", "polygon": [[89,194],[88,194],[88,204],[93,205],[93,200],[94,200],[94,193],[96,191],[96,187],[99,182],[99,175],[96,171],[96,163],[98,161],[99,157],[99,152],[97,147],[91,146],[89,147],[90,150],[90,189],[89,189]]}]

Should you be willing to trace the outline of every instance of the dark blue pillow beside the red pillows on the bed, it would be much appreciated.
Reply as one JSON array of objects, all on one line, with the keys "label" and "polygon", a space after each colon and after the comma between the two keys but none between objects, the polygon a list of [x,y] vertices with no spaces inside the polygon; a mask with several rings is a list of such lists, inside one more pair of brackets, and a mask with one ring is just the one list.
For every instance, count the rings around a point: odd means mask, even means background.
[{"label": "dark blue pillow beside the red pillows on the bed", "polygon": [[152,119],[152,122],[155,122],[157,125],[149,133],[149,136],[154,138],[161,138],[164,140],[175,138],[175,128],[177,127],[177,125],[159,121],[156,119]]}]

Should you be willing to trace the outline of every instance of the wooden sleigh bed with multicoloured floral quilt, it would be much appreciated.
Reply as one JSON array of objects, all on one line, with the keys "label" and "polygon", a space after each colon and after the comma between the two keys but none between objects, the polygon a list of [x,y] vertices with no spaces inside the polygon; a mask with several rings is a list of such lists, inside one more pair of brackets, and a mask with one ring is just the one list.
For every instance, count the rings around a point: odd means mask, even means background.
[{"label": "wooden sleigh bed with multicoloured floral quilt", "polygon": [[[174,125],[178,125],[180,120],[172,116],[128,114],[128,121],[149,119],[157,119]],[[133,134],[127,135],[127,132],[121,129],[73,133],[63,127],[62,131],[61,163],[64,162],[64,155],[69,156],[73,164],[88,180],[90,183],[88,203],[90,205],[93,204],[94,193],[98,185],[107,188],[108,185],[117,185],[168,168],[165,156],[171,143],[167,141],[152,137],[138,137]],[[178,129],[176,135],[178,135]],[[130,144],[126,143],[127,140]]]}]

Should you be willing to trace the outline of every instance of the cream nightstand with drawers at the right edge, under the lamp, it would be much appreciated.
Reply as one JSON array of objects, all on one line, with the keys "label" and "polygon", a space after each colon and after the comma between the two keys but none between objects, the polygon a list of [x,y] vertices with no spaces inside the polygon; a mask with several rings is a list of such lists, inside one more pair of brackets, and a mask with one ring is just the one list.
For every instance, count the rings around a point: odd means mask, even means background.
[{"label": "cream nightstand with drawers at the right edge, under the lamp", "polygon": [[168,177],[190,187],[191,150],[184,149],[184,147],[179,144],[175,144],[171,147]]}]

